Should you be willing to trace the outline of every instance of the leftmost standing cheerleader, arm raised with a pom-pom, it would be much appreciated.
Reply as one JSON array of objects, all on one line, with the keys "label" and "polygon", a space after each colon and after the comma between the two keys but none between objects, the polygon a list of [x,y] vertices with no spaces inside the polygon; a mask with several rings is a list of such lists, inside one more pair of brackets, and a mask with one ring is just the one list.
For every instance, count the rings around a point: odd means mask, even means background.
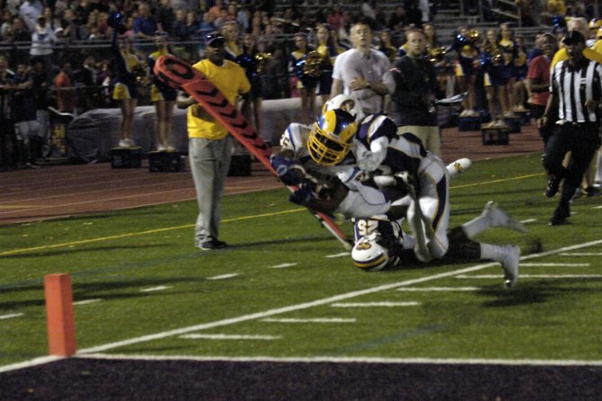
[{"label": "leftmost standing cheerleader, arm raised with a pom-pom", "polygon": [[127,37],[119,40],[118,32],[113,32],[111,48],[115,56],[115,75],[117,83],[113,89],[113,99],[120,103],[120,144],[119,147],[135,147],[131,138],[134,111],[137,106],[137,76],[135,71],[141,67],[140,60],[132,53],[132,45]]}]

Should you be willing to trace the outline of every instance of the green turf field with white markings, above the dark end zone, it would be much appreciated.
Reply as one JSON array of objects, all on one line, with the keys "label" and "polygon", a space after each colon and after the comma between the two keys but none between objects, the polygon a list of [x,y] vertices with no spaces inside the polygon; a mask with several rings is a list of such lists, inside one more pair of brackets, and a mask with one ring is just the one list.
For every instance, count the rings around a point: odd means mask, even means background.
[{"label": "green turf field with white markings, above the dark end zone", "polygon": [[90,301],[75,305],[80,352],[602,361],[602,202],[576,200],[571,225],[548,227],[539,157],[478,162],[452,183],[450,227],[487,200],[526,222],[478,238],[521,246],[513,290],[483,261],[360,272],[284,189],[227,197],[232,246],[213,252],[193,246],[191,201],[0,227],[0,367],[48,353],[54,272]]}]

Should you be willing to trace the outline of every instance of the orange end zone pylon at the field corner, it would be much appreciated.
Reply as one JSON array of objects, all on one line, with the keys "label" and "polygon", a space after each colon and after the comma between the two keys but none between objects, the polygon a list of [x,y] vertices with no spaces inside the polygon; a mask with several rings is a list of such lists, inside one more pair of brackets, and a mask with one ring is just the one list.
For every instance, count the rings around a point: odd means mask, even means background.
[{"label": "orange end zone pylon at the field corner", "polygon": [[76,352],[73,291],[68,273],[44,276],[49,354],[71,356]]}]

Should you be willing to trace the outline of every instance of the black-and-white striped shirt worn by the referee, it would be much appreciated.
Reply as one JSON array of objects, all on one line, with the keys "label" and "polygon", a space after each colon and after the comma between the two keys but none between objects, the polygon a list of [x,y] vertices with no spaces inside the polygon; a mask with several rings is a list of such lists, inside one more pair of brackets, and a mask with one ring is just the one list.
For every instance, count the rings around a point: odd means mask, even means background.
[{"label": "black-and-white striped shirt worn by the referee", "polygon": [[558,99],[559,118],[571,122],[598,122],[596,110],[585,107],[588,100],[602,97],[602,65],[582,58],[571,66],[563,60],[553,67],[550,92]]}]

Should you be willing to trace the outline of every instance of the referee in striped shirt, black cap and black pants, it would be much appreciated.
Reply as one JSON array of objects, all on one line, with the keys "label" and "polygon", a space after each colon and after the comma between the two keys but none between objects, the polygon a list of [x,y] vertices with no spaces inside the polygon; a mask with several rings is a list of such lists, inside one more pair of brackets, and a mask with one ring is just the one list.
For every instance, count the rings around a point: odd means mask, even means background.
[{"label": "referee in striped shirt, black cap and black pants", "polygon": [[[552,198],[564,180],[561,200],[548,223],[550,226],[569,223],[571,197],[580,187],[583,174],[600,146],[597,111],[602,96],[602,65],[583,57],[586,44],[579,31],[569,31],[563,42],[569,59],[553,67],[551,95],[544,116],[538,120],[538,125],[543,127],[548,116],[558,115],[560,119],[556,121],[544,156],[544,167],[551,174],[545,196]],[[568,152],[571,159],[564,167],[562,160]]]}]

